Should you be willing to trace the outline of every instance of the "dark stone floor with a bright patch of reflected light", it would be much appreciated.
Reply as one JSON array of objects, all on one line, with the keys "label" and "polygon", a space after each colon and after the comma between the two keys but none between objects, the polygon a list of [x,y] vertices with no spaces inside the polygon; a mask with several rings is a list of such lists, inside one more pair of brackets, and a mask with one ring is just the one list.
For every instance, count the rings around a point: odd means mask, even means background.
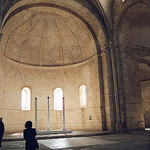
[{"label": "dark stone floor with a bright patch of reflected light", "polygon": [[[82,135],[39,138],[39,150],[150,150],[149,131],[134,131],[126,134]],[[45,136],[43,135],[43,137]],[[5,136],[5,139],[0,150],[24,149],[25,143],[23,140],[9,140],[8,136],[7,138]]]}]

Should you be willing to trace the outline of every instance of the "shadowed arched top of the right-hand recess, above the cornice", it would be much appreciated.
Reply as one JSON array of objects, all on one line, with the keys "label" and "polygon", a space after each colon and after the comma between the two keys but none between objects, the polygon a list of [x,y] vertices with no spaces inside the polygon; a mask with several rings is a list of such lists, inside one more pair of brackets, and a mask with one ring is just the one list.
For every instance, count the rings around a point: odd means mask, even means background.
[{"label": "shadowed arched top of the right-hand recess, above the cornice", "polygon": [[[149,32],[149,8],[145,3],[136,2],[132,3],[132,5],[128,6],[124,13],[122,13],[122,17],[119,20],[118,24],[116,25],[117,30],[117,39],[119,40],[117,43],[120,44],[127,44],[135,45],[135,46],[143,46],[143,47],[150,47],[148,45],[149,35],[146,34],[146,31]],[[143,30],[145,29],[145,32]],[[127,31],[126,33],[123,32]],[[133,32],[130,32],[132,30]],[[131,34],[133,33],[133,36]],[[138,41],[142,35],[147,35],[144,39],[147,39],[147,45],[144,41]],[[123,37],[126,36],[126,37]],[[123,40],[124,38],[124,40]],[[132,39],[131,39],[132,38]],[[125,41],[126,39],[126,41]],[[132,42],[132,43],[131,43]],[[134,42],[134,43],[133,43]]]}]

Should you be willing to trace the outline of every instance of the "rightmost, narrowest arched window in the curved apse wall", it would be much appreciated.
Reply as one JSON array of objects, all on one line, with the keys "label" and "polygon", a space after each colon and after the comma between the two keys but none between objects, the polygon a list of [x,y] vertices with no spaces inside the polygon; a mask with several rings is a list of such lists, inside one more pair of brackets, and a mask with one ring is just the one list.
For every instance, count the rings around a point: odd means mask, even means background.
[{"label": "rightmost, narrowest arched window in the curved apse wall", "polygon": [[81,85],[79,89],[80,108],[87,108],[87,89],[85,85]]}]

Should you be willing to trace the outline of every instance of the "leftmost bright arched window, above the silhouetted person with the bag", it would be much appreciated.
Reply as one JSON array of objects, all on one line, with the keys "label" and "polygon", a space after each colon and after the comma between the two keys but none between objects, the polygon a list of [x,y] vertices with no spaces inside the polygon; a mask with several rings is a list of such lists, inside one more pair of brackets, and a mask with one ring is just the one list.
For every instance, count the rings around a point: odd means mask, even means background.
[{"label": "leftmost bright arched window, above the silhouetted person with the bag", "polygon": [[31,91],[28,87],[24,87],[21,90],[21,109],[30,110],[31,103]]}]

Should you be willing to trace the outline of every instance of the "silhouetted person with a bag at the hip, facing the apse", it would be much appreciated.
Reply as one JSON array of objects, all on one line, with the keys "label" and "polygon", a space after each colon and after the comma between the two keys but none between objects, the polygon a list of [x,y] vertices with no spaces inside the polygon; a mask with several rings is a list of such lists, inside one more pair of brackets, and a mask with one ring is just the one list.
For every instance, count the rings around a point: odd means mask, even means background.
[{"label": "silhouetted person with a bag at the hip, facing the apse", "polygon": [[26,140],[25,147],[26,150],[36,150],[39,148],[38,142],[36,140],[36,130],[32,128],[32,122],[27,121],[25,123],[25,130],[23,132],[24,139]]}]

